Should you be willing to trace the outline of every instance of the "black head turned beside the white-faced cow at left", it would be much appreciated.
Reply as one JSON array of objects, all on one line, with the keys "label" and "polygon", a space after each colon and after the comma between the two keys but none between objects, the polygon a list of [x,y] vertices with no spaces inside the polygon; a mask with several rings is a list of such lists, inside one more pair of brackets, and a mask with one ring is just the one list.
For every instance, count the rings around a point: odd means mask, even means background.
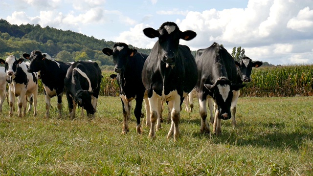
[{"label": "black head turned beside the white-faced cow at left", "polygon": [[39,50],[34,50],[31,54],[24,53],[23,57],[30,61],[27,72],[38,72],[43,66],[46,55],[42,54]]}]

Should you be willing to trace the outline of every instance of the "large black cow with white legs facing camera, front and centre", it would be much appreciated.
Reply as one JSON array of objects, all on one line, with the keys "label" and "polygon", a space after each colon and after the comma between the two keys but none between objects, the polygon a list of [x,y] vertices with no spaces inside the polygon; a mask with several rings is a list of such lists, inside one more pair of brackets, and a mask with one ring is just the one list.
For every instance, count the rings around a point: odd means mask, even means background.
[{"label": "large black cow with white legs facing camera, front and centre", "polygon": [[164,22],[159,29],[145,28],[143,33],[149,38],[158,38],[144,63],[142,82],[148,93],[150,104],[149,137],[155,139],[155,124],[160,114],[161,101],[168,101],[171,110],[171,128],[167,138],[180,136],[180,105],[184,97],[197,83],[197,65],[190,48],[180,45],[196,37],[196,32],[179,30],[174,22]]}]

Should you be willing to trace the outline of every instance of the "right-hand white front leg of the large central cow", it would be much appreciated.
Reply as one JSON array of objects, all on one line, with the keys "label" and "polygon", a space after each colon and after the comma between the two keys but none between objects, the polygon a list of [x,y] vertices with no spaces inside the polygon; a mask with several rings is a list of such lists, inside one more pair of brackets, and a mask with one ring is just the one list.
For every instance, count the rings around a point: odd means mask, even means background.
[{"label": "right-hand white front leg of the large central cow", "polygon": [[[173,109],[171,111],[171,129],[167,134],[167,138],[170,138],[172,135],[174,135],[174,140],[177,140],[180,136],[179,132],[179,119],[180,119],[180,95],[176,95],[173,97]],[[170,102],[172,102],[170,101]],[[174,133],[173,133],[174,131]]]}]

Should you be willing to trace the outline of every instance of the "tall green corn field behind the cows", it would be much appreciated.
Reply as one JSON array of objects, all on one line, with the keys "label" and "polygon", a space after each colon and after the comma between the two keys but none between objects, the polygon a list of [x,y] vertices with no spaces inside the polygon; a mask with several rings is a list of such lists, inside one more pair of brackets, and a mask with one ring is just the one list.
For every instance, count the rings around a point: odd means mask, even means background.
[{"label": "tall green corn field behind the cows", "polygon": [[[102,72],[100,96],[119,96],[118,85],[110,75]],[[241,90],[242,97],[288,97],[313,95],[313,65],[260,67],[252,69],[252,81]],[[41,80],[39,93],[44,92]]]}]

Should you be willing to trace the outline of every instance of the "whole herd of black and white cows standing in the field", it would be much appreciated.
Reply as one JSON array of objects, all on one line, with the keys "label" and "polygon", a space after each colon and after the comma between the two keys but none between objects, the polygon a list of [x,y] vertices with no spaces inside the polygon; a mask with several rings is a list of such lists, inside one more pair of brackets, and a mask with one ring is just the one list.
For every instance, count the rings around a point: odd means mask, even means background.
[{"label": "whole herd of black and white cows standing in the field", "polygon": [[[163,102],[166,102],[169,109],[168,120],[171,121],[167,137],[177,140],[180,135],[181,104],[183,101],[189,102],[190,109],[186,108],[192,110],[192,99],[195,96],[199,99],[201,132],[210,132],[206,120],[206,104],[210,110],[210,123],[213,124],[215,134],[222,132],[221,119],[232,117],[232,124],[236,125],[235,114],[240,89],[245,86],[244,82],[251,81],[252,67],[261,66],[261,62],[252,63],[248,57],[237,62],[217,43],[199,49],[193,56],[190,48],[180,45],[179,40],[192,40],[196,37],[196,32],[180,31],[174,22],[164,22],[157,30],[145,28],[143,33],[149,38],[158,38],[149,55],[137,52],[124,43],[116,43],[113,48],[102,49],[104,54],[112,55],[114,71],[117,73],[111,77],[116,79],[120,90],[124,115],[122,133],[129,131],[132,100],[136,102],[134,116],[137,121],[136,131],[139,134],[142,132],[140,119],[144,116],[144,101],[150,138],[155,138],[156,130],[161,128]],[[23,62],[25,59],[29,62]],[[1,111],[8,84],[9,115],[13,114],[15,97],[18,97],[18,116],[25,115],[27,102],[28,110],[31,110],[33,104],[35,116],[38,79],[41,79],[45,90],[45,117],[49,117],[50,99],[54,96],[57,96],[59,116],[62,116],[64,92],[67,95],[71,118],[75,118],[77,104],[87,111],[87,115],[96,112],[102,80],[101,69],[97,63],[54,61],[46,59],[45,54],[39,50],[34,50],[31,54],[24,53],[20,59],[10,55],[5,61],[0,59],[0,63],[5,65],[0,67]]]}]

